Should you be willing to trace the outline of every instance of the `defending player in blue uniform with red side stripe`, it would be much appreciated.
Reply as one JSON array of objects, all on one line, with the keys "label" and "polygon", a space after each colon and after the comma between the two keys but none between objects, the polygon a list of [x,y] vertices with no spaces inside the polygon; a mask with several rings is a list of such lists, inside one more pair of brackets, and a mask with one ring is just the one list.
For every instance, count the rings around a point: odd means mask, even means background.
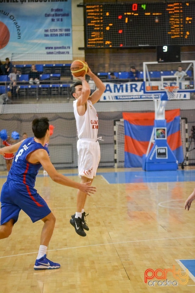
[{"label": "defending player in blue uniform with red side stripe", "polygon": [[59,263],[51,262],[46,258],[47,247],[55,226],[55,216],[34,188],[37,173],[43,166],[56,183],[77,188],[88,195],[93,194],[96,188],[89,186],[89,182],[77,183],[56,171],[44,147],[45,143],[49,142],[50,136],[48,118],[34,119],[32,130],[35,137],[0,149],[1,155],[17,152],[1,191],[0,239],[12,233],[13,225],[17,222],[22,209],[32,222],[38,220],[44,222],[34,269],[58,269]]}]

